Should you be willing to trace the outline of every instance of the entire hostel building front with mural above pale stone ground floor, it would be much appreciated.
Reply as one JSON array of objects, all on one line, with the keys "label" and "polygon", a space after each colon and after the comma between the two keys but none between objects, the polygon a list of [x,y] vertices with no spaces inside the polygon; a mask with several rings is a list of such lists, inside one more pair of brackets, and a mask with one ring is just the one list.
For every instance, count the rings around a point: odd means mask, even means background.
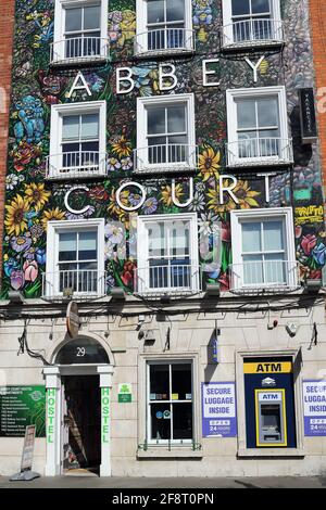
[{"label": "entire hostel building front with mural above pale stone ground floor", "polygon": [[310,28],[306,0],[16,1],[1,473],[28,423],[46,475],[325,471]]}]

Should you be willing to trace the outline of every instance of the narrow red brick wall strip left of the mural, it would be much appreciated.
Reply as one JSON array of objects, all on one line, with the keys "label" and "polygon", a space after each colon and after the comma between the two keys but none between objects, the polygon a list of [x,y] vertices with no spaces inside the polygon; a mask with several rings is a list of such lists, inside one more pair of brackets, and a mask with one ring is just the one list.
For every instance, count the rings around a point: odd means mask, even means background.
[{"label": "narrow red brick wall strip left of the mural", "polygon": [[2,259],[4,180],[7,174],[7,143],[11,88],[11,63],[13,52],[14,10],[14,0],[0,0],[0,259]]}]

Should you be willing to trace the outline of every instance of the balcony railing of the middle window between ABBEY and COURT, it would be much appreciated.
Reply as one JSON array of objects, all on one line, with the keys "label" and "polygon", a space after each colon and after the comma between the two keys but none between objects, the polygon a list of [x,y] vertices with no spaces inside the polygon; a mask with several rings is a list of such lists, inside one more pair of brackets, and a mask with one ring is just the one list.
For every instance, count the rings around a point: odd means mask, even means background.
[{"label": "balcony railing of the middle window between ABBEY and COURT", "polygon": [[136,173],[193,170],[198,165],[198,146],[184,143],[150,145],[134,150]]}]

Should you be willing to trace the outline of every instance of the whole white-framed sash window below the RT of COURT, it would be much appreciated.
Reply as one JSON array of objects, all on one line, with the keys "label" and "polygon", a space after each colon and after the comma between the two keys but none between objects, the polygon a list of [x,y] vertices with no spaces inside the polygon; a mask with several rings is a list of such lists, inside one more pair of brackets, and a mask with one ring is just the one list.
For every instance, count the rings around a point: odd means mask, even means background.
[{"label": "whole white-framed sash window below the RT of COURT", "polygon": [[296,288],[291,208],[231,213],[231,290]]}]

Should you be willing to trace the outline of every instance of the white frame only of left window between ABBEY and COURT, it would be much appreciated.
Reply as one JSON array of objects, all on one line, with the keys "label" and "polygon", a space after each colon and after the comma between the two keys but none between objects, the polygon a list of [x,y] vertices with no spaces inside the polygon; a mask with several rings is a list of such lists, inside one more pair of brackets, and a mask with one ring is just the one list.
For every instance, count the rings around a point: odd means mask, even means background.
[{"label": "white frame only of left window between ABBEY and COURT", "polygon": [[[60,168],[62,167],[61,158],[63,152],[61,145],[63,143],[63,117],[68,115],[86,115],[97,113],[99,115],[99,156],[103,155],[104,162],[106,160],[106,102],[105,101],[88,101],[85,103],[70,103],[70,104],[55,104],[51,106],[51,127],[50,127],[50,155],[49,155],[49,170],[48,176],[52,179],[60,179],[62,175]],[[54,170],[52,171],[51,168]],[[67,170],[64,173],[65,178],[73,179],[85,178],[91,176],[104,176],[106,174],[106,165],[101,164],[99,161],[98,171],[78,171]]]}]

